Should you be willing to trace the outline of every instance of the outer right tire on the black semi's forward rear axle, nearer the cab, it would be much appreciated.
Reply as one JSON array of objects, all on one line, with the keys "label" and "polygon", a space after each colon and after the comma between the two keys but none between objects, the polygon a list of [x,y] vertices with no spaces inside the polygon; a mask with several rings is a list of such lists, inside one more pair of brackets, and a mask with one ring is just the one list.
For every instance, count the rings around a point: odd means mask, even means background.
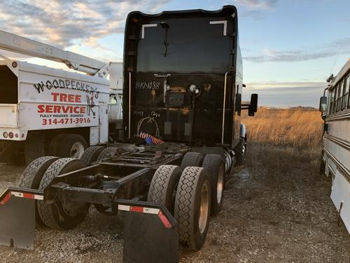
[{"label": "outer right tire on the black semi's forward rear axle, nearer the cab", "polygon": [[225,163],[220,155],[207,154],[202,167],[207,169],[211,180],[211,215],[217,215],[223,206]]}]

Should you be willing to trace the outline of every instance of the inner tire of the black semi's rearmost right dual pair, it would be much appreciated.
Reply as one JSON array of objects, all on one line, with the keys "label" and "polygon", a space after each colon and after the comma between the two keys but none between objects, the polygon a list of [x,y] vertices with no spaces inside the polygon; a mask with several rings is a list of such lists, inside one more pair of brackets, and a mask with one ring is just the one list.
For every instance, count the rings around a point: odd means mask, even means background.
[{"label": "inner tire of the black semi's rearmost right dual pair", "polygon": [[172,215],[174,215],[174,201],[176,187],[181,177],[179,166],[160,166],[155,171],[150,189],[148,190],[148,202],[162,203]]}]

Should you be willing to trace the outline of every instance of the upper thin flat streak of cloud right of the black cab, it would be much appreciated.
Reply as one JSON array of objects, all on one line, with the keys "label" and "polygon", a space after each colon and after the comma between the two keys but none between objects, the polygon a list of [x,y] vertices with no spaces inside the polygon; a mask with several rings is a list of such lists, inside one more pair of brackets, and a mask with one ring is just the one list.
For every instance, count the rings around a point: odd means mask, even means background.
[{"label": "upper thin flat streak of cloud right of the black cab", "polygon": [[[317,50],[318,49],[318,50]],[[350,38],[339,39],[327,45],[327,47],[316,48],[316,50],[262,50],[262,55],[244,57],[251,62],[300,62],[329,58],[338,54],[350,52]]]}]

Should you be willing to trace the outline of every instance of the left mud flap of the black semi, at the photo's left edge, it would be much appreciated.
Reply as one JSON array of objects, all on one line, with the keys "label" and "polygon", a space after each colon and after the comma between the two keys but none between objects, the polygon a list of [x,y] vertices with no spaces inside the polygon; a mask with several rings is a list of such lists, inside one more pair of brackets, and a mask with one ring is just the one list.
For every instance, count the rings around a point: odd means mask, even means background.
[{"label": "left mud flap of the black semi, at the photo's left edge", "polygon": [[0,245],[34,249],[35,199],[42,193],[10,188],[0,196]]}]

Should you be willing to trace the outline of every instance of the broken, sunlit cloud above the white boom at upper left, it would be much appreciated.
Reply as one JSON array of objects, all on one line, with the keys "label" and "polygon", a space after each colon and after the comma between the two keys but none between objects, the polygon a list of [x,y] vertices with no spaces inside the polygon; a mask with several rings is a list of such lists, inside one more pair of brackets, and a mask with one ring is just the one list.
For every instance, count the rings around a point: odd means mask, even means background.
[{"label": "broken, sunlit cloud above the white boom at upper left", "polygon": [[154,13],[168,0],[3,0],[0,29],[66,48],[99,46],[99,39],[123,33],[127,13]]}]

